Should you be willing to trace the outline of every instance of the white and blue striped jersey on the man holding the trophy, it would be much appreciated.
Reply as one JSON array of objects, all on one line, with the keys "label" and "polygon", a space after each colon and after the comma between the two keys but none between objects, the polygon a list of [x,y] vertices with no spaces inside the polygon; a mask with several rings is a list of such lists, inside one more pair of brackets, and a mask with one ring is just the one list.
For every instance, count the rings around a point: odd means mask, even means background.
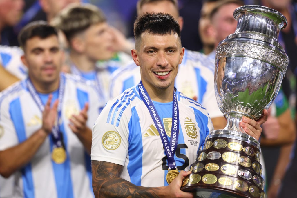
[{"label": "white and blue striped jersey on the man holding the trophy", "polygon": [[[178,170],[188,170],[213,126],[200,103],[178,91],[176,96],[180,122],[174,159]],[[154,106],[170,141],[172,102],[154,102]],[[91,160],[124,166],[121,178],[138,186],[168,185],[163,143],[137,85],[110,100],[102,110],[92,130]]]}]

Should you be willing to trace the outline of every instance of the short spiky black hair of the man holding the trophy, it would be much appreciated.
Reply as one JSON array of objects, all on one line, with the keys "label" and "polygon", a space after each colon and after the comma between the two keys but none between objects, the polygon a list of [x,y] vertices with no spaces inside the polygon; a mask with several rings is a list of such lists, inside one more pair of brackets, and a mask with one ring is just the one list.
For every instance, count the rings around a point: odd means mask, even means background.
[{"label": "short spiky black hair of the man holding the trophy", "polygon": [[177,34],[181,38],[181,28],[170,14],[150,12],[139,16],[134,22],[135,46],[142,33],[166,35]]}]

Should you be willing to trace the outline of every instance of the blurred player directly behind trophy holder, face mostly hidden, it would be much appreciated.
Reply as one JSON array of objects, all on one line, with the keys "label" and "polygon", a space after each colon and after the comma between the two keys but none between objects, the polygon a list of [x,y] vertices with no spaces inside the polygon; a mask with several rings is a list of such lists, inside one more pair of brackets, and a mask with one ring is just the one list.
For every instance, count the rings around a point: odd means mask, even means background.
[{"label": "blurred player directly behind trophy holder, face mostly hidden", "polygon": [[[179,16],[176,0],[140,0],[137,3],[138,16],[146,12],[164,12],[173,16],[183,27],[184,20]],[[214,95],[213,62],[200,52],[185,50],[184,59],[179,65],[175,86],[186,96],[198,101],[206,107],[214,129],[223,129],[226,121],[219,110]],[[116,71],[110,83],[109,98],[113,99],[127,88],[140,81],[139,66],[131,62]]]}]

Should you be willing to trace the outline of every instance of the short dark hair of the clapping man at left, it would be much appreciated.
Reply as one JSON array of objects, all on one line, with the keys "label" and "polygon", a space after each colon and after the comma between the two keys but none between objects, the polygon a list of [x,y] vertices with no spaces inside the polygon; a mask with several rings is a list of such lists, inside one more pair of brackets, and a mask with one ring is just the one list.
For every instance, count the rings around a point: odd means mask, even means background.
[{"label": "short dark hair of the clapping man at left", "polygon": [[25,27],[23,27],[18,34],[18,42],[20,46],[25,49],[26,42],[28,39],[33,37],[40,37],[45,39],[55,35],[58,37],[58,31],[53,26],[49,25],[46,21],[33,21],[28,23]]}]

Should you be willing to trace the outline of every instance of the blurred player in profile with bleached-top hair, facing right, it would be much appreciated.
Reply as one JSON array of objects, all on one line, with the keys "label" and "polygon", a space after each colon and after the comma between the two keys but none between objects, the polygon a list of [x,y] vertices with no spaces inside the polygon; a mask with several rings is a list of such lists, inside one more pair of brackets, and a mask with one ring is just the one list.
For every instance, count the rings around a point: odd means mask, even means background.
[{"label": "blurred player in profile with bleached-top hair, facing right", "polygon": [[92,80],[98,92],[107,96],[110,73],[97,68],[97,61],[113,57],[113,34],[105,15],[91,4],[71,4],[53,20],[69,45],[70,73]]}]

